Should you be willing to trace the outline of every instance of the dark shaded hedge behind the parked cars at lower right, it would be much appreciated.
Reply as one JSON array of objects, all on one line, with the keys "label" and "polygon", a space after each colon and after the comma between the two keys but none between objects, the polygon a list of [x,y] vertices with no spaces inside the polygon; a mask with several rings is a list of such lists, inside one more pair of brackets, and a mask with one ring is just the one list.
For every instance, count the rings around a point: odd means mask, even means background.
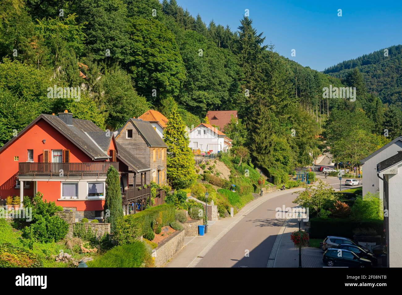
[{"label": "dark shaded hedge behind the parked cars at lower right", "polygon": [[347,218],[312,218],[310,219],[310,238],[325,238],[326,236],[344,236],[353,238],[356,228],[373,228],[378,235],[383,234],[383,220],[353,221]]}]

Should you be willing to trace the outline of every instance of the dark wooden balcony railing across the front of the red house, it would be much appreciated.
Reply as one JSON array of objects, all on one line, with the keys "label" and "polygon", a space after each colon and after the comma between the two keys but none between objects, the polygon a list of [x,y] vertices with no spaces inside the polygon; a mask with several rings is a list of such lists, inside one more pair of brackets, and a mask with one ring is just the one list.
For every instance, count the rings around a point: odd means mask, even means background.
[{"label": "dark wooden balcony railing across the front of the red house", "polygon": [[92,162],[92,163],[18,163],[19,175],[50,175],[50,176],[70,176],[70,175],[99,175],[106,174],[110,166],[119,171],[118,162]]}]

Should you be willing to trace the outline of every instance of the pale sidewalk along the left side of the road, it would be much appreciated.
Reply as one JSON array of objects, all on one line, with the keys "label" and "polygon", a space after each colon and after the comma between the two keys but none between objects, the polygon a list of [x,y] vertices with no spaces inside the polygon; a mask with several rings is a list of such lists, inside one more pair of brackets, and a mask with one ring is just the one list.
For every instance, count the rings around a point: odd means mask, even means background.
[{"label": "pale sidewalk along the left side of the road", "polygon": [[303,188],[293,188],[285,191],[277,190],[275,192],[269,192],[248,203],[234,217],[223,218],[214,223],[208,222],[208,233],[204,236],[185,237],[185,247],[177,253],[172,258],[172,261],[168,262],[165,267],[195,267],[213,245],[215,245],[235,224],[242,220],[249,211],[252,211],[261,203],[271,198],[302,189]]}]

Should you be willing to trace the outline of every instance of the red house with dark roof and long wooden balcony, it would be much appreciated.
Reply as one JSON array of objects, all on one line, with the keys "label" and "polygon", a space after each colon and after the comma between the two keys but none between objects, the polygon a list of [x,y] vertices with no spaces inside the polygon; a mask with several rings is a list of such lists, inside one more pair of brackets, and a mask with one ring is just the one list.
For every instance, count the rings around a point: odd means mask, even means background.
[{"label": "red house with dark roof and long wooden balcony", "polygon": [[78,218],[99,218],[107,170],[119,170],[116,150],[113,132],[91,121],[41,114],[0,148],[0,198],[41,192]]}]

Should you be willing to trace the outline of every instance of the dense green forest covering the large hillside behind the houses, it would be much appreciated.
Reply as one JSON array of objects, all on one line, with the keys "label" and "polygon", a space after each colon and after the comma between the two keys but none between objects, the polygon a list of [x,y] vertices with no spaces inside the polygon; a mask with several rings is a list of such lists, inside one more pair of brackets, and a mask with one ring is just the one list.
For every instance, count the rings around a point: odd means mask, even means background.
[{"label": "dense green forest covering the large hillside behind the houses", "polygon": [[[266,45],[263,34],[248,17],[236,30],[207,25],[175,0],[4,0],[0,146],[40,113],[64,109],[110,130],[149,108],[167,117],[177,108],[189,126],[208,110],[234,109],[242,126],[232,130],[244,130],[238,142],[255,164],[285,180],[326,147],[320,134],[339,119],[332,110],[351,126],[360,112],[371,135],[382,132],[386,111],[402,118],[366,91],[355,102],[323,98],[329,85],[365,85],[361,73],[349,71],[341,82],[302,67]],[[81,97],[49,97],[53,85],[81,87]],[[324,135],[339,139],[330,128]]]}]

